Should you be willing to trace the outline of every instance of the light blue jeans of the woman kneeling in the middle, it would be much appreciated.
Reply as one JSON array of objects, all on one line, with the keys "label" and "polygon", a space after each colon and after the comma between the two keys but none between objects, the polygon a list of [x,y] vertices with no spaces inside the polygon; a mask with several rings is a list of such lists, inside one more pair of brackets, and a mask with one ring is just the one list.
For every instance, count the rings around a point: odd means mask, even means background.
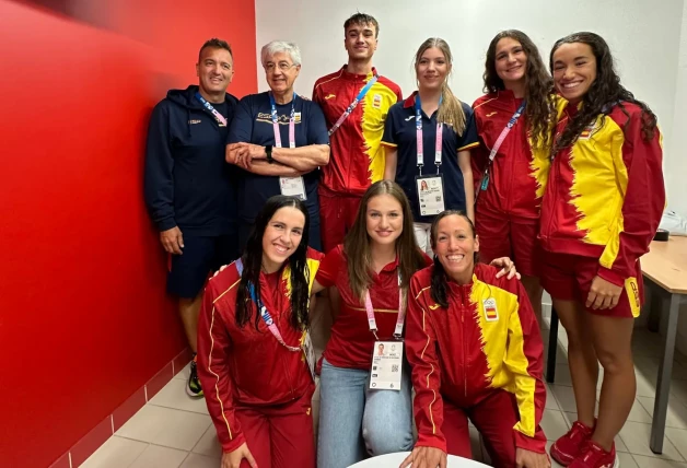
[{"label": "light blue jeans of the woman kneeling in the middle", "polygon": [[401,390],[371,390],[370,372],[323,360],[317,466],[346,468],[371,456],[412,449],[410,370]]}]

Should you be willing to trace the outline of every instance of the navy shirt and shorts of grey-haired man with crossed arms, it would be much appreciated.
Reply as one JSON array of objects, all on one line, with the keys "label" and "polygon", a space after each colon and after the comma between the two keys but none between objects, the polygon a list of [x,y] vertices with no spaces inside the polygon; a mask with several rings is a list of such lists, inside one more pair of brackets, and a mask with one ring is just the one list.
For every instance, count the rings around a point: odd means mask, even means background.
[{"label": "navy shirt and shorts of grey-haired man with crossed arms", "polygon": [[[293,102],[276,104],[279,134],[283,148],[289,148],[289,121],[291,108],[294,110],[295,148],[310,144],[328,144],[327,126],[319,106],[312,101],[294,94]],[[271,104],[268,92],[251,94],[241,100],[229,132],[228,144],[247,142],[261,147],[275,147],[275,129],[271,117]],[[264,176],[242,168],[237,180],[238,237],[243,248],[248,239],[255,218],[268,198],[280,195],[280,177]],[[319,202],[317,185],[319,169],[303,175],[305,206],[310,214],[310,246],[322,250],[319,241]]]}]

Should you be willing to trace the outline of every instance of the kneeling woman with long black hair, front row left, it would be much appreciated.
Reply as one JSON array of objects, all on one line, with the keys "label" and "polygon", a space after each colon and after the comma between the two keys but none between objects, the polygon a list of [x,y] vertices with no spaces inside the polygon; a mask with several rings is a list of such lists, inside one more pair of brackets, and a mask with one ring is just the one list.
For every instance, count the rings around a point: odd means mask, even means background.
[{"label": "kneeling woman with long black hair, front row left", "polygon": [[322,255],[307,233],[302,201],[268,199],[244,256],[206,288],[198,375],[222,468],[315,467],[304,330]]}]

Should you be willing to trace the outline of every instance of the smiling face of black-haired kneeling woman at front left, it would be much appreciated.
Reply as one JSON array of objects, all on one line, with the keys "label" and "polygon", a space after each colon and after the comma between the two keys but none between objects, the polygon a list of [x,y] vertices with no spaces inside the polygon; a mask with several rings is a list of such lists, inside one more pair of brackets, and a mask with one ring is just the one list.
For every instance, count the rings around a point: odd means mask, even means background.
[{"label": "smiling face of black-haired kneeling woman at front left", "polygon": [[275,212],[263,234],[263,268],[277,271],[301,244],[305,215],[294,207],[283,207]]}]

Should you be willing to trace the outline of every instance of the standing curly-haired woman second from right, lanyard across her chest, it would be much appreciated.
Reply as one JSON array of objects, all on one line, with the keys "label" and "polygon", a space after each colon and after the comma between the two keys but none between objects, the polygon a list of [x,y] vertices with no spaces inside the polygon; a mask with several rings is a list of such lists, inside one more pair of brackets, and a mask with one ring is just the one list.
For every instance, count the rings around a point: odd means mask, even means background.
[{"label": "standing curly-haired woman second from right, lanyard across her chest", "polygon": [[537,46],[516,30],[491,40],[484,79],[487,94],[473,104],[481,141],[473,152],[481,256],[514,259],[540,321],[537,234],[556,121],[554,85]]}]

